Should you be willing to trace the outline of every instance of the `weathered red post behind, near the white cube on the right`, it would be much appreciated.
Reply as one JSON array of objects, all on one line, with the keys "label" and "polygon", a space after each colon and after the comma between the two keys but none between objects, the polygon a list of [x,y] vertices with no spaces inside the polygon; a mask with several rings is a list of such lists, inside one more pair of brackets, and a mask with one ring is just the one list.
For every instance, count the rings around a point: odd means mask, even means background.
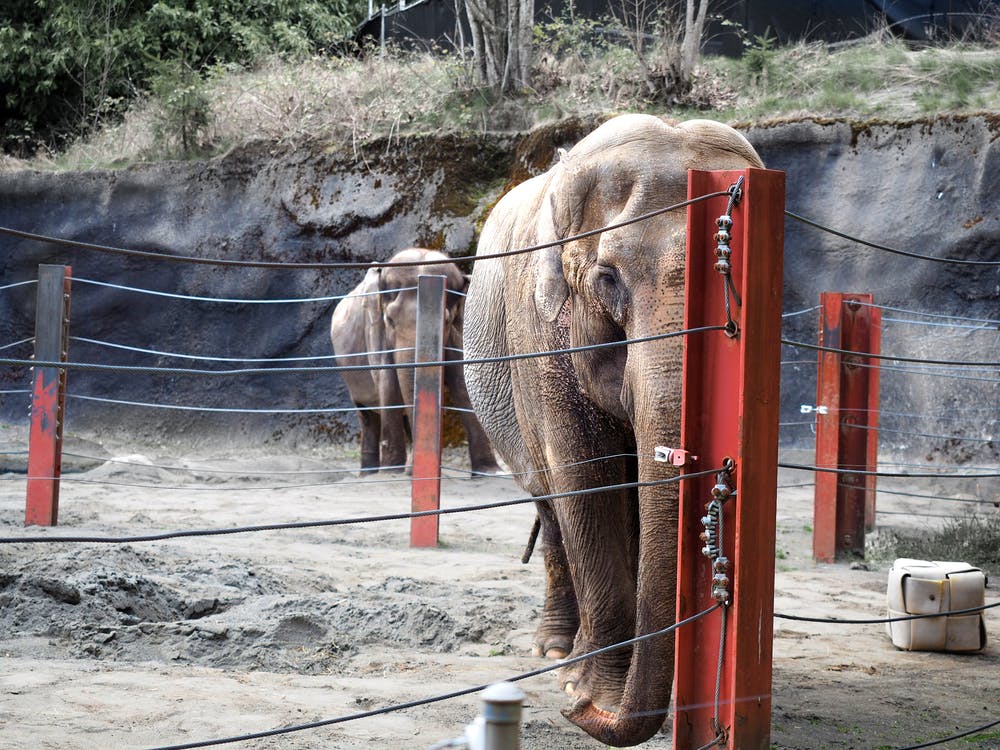
[{"label": "weathered red post behind, near the white cube on the right", "polygon": [[[823,292],[819,345],[878,354],[881,310],[871,294]],[[813,558],[865,554],[865,531],[875,525],[875,476],[839,473],[878,466],[878,360],[841,351],[819,352],[816,384],[816,467]]]}]

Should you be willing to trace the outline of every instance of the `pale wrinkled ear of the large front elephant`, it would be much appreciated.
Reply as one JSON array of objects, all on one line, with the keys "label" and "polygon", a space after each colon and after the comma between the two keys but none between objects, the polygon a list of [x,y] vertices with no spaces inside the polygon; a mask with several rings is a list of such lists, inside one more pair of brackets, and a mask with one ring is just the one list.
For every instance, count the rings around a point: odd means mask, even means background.
[{"label": "pale wrinkled ear of the large front elephant", "polygon": [[[535,233],[539,245],[559,242],[572,235],[573,227],[578,223],[573,221],[570,209],[574,205],[572,197],[563,194],[566,187],[576,180],[572,175],[567,175],[561,165],[557,169],[559,173],[539,207]],[[535,255],[535,309],[549,323],[559,315],[569,296],[569,285],[562,268],[562,249],[561,244],[553,245]]]}]

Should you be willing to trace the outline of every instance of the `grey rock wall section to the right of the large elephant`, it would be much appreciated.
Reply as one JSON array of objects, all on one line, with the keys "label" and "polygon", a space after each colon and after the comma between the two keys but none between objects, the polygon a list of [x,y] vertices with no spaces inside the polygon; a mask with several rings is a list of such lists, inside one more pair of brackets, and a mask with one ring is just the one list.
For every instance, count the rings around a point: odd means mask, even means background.
[{"label": "grey rock wall section to the right of the large elephant", "polygon": [[[787,174],[786,209],[853,237],[910,253],[1000,261],[1000,119],[908,123],[809,120],[751,127],[765,163]],[[846,241],[796,220],[785,224],[786,315],[823,291],[871,292],[883,310],[882,351],[943,361],[1000,361],[1000,266],[919,260]],[[913,311],[929,315],[914,315]],[[983,321],[947,317],[977,318]],[[909,321],[918,320],[919,324]],[[786,339],[816,341],[815,313],[787,317]],[[786,346],[782,421],[808,420],[814,354]],[[883,363],[883,449],[942,464],[995,461],[1000,369]],[[962,436],[964,441],[928,436]],[[782,430],[809,443],[805,425]]]}]

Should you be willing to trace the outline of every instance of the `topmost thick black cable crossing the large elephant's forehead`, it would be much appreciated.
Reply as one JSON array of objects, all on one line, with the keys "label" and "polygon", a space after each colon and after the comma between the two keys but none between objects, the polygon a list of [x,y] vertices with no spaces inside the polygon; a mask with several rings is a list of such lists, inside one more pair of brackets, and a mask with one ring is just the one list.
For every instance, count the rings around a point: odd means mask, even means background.
[{"label": "topmost thick black cable crossing the large elephant's forehead", "polygon": [[613,229],[620,229],[621,227],[626,227],[629,224],[635,224],[640,221],[646,221],[654,216],[659,216],[660,214],[667,213],[669,211],[676,211],[680,208],[685,208],[694,203],[699,203],[701,201],[709,200],[710,198],[718,198],[723,195],[728,195],[727,191],[719,191],[715,193],[708,193],[707,195],[701,195],[697,198],[690,198],[686,201],[681,201],[680,203],[674,203],[670,206],[665,206],[664,208],[658,208],[655,211],[650,211],[648,213],[642,214],[641,216],[636,216],[633,219],[626,219],[625,221],[618,222],[617,224],[609,224],[608,226],[600,227],[599,229],[591,229],[588,232],[581,232],[580,234],[573,235],[572,237],[564,237],[560,240],[555,240],[553,242],[545,242],[539,245],[531,245],[530,247],[520,248],[518,250],[508,250],[502,253],[492,253],[489,255],[466,255],[458,256],[453,258],[442,258],[439,260],[417,260],[417,261],[403,261],[393,263],[391,261],[375,261],[375,262],[350,262],[342,261],[338,263],[285,263],[282,261],[268,261],[268,260],[226,260],[222,258],[194,258],[189,255],[170,255],[169,253],[160,253],[152,250],[129,250],[120,247],[111,247],[109,245],[97,245],[91,242],[80,242],[77,240],[67,240],[60,237],[49,237],[43,234],[35,234],[33,232],[23,232],[19,229],[11,229],[9,227],[0,227],[0,234],[6,234],[11,237],[17,237],[24,240],[32,240],[35,242],[49,242],[54,245],[63,245],[66,247],[74,247],[80,250],[94,250],[102,253],[112,253],[115,255],[128,255],[138,258],[151,258],[154,260],[169,260],[182,263],[195,263],[201,265],[213,265],[213,266],[228,266],[228,267],[238,267],[238,268],[288,268],[288,269],[369,269],[369,268],[395,268],[403,266],[433,266],[433,265],[443,265],[446,263],[461,263],[463,261],[478,261],[478,260],[493,260],[494,258],[507,258],[512,255],[524,255],[525,253],[533,253],[538,250],[545,250],[550,247],[557,247],[559,245],[565,244],[567,242],[574,242],[576,240],[585,239],[587,237],[592,237],[596,234],[601,234],[603,232],[609,232]]}]

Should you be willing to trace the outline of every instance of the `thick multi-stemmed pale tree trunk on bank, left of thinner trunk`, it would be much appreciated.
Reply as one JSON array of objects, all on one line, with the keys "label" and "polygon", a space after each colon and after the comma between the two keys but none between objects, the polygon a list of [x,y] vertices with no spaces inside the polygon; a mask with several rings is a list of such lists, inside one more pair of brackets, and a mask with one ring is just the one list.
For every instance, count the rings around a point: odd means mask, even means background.
[{"label": "thick multi-stemmed pale tree trunk on bank, left of thinner trunk", "polygon": [[480,84],[505,94],[530,85],[534,0],[465,0]]}]

